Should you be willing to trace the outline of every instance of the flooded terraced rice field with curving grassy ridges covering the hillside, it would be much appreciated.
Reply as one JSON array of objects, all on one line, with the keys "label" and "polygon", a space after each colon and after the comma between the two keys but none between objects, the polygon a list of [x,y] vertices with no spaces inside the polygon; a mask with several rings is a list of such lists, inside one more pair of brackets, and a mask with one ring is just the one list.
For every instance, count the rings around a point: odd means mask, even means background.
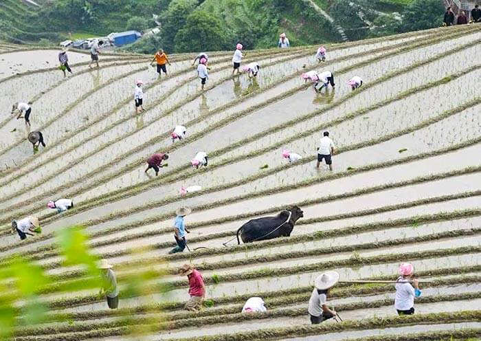
[{"label": "flooded terraced rice field with curving grassy ridges covering the hillside", "polygon": [[[63,78],[56,52],[0,46],[0,250],[56,281],[41,297],[49,320],[15,340],[134,340],[137,327],[145,340],[481,338],[480,42],[481,26],[471,25],[331,45],[322,65],[315,47],[252,51],[244,63],[261,65],[254,81],[232,78],[232,52],[218,52],[205,91],[190,55],[172,56],[169,76],[158,79],[149,56],[103,56],[91,71],[87,55],[72,54],[74,75]],[[39,53],[45,61],[19,67]],[[315,94],[300,78],[307,69],[330,69],[335,90]],[[355,75],[364,85],[350,91]],[[142,115],[133,109],[135,79],[145,84]],[[8,115],[16,100],[34,102],[32,129],[47,143],[36,155],[23,122]],[[172,144],[177,124],[188,137]],[[337,145],[333,172],[315,168],[325,130]],[[287,164],[284,148],[302,159]],[[145,159],[160,151],[170,153],[168,167],[144,174]],[[189,166],[197,151],[208,153],[208,168]],[[179,195],[192,185],[203,189]],[[75,208],[45,208],[59,197]],[[304,218],[290,237],[223,246],[249,219],[291,205]],[[167,254],[179,206],[193,210],[192,252]],[[20,242],[10,220],[32,214],[43,234]],[[85,273],[65,266],[54,245],[71,225],[84,226],[93,252],[114,265],[120,309],[107,309],[98,289],[56,292]],[[414,316],[396,315],[393,285],[339,283],[329,303],[344,322],[309,325],[322,270],[342,281],[388,280],[403,261],[427,281]],[[197,313],[183,311],[188,283],[177,275],[189,262],[207,285],[209,307]],[[141,270],[155,276],[132,294],[122,282]],[[269,311],[241,315],[251,296]]]}]

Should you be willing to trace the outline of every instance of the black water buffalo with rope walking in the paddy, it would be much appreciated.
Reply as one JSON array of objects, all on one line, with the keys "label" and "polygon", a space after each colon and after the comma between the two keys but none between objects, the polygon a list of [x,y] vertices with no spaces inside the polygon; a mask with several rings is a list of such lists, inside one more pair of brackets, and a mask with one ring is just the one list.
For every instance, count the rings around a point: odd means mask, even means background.
[{"label": "black water buffalo with rope walking in the paddy", "polygon": [[304,212],[298,206],[293,206],[289,210],[283,210],[275,217],[249,220],[237,230],[237,243],[240,244],[239,232],[244,243],[290,236],[295,222],[302,217],[304,217]]}]

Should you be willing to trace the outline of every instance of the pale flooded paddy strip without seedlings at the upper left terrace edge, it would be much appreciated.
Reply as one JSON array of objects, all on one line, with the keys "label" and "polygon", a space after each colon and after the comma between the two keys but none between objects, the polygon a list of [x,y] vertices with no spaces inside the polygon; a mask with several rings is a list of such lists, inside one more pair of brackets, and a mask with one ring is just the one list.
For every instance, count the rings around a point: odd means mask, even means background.
[{"label": "pale flooded paddy strip without seedlings at the upper left terrace edge", "polygon": [[[34,50],[12,52],[0,55],[0,79],[19,74],[21,72],[35,71],[58,65],[58,52],[56,50]],[[68,52],[69,63],[76,64],[90,61],[89,54]],[[32,58],[34,56],[34,58]]]}]

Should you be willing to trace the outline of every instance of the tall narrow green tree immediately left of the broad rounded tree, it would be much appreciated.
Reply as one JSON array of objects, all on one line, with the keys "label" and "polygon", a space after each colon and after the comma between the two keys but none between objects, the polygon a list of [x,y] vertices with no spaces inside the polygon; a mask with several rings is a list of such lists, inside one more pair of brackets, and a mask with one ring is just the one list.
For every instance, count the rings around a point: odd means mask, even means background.
[{"label": "tall narrow green tree immediately left of the broad rounded tree", "polygon": [[164,50],[174,51],[174,41],[177,32],[186,24],[187,17],[197,6],[196,0],[173,0],[161,14],[161,36]]}]

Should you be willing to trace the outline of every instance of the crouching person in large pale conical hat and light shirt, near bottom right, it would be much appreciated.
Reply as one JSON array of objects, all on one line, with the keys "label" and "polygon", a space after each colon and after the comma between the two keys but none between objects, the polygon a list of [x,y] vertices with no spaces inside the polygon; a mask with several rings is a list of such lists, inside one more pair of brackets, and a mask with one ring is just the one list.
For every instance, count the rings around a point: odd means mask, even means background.
[{"label": "crouching person in large pale conical hat and light shirt, near bottom right", "polygon": [[315,278],[314,289],[309,299],[309,317],[312,325],[319,325],[321,322],[333,318],[337,312],[327,306],[327,298],[331,288],[339,281],[339,273],[326,271]]}]

